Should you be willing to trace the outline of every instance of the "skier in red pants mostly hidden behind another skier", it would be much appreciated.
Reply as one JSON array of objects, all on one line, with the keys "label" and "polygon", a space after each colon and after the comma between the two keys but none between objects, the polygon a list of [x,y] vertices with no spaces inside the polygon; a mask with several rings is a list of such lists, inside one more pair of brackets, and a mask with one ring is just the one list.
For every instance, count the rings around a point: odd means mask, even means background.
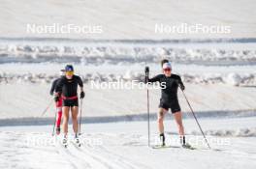
[{"label": "skier in red pants mostly hidden behind another skier", "polygon": [[[50,88],[50,91],[49,91],[49,94],[52,96],[55,89],[56,89],[56,86],[57,86],[57,83],[58,81],[61,79],[61,76],[65,75],[65,70],[60,70],[59,72],[60,74],[60,78],[56,78],[53,82],[52,82],[52,85],[51,85],[51,88]],[[62,99],[59,98],[58,100],[55,100],[55,106],[56,106],[56,109],[57,109],[57,117],[56,117],[56,134],[58,135],[60,133],[60,124],[61,124],[61,117],[62,117]]]}]

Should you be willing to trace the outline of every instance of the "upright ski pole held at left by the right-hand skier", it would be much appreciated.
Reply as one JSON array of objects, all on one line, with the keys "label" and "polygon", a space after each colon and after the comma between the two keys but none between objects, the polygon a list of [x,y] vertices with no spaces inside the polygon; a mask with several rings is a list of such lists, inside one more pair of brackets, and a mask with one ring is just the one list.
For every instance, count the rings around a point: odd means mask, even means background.
[{"label": "upright ski pole held at left by the right-hand skier", "polygon": [[[149,68],[145,67],[145,83],[148,82]],[[147,105],[147,145],[150,147],[150,115],[149,115],[149,91],[146,85],[146,105]]]}]

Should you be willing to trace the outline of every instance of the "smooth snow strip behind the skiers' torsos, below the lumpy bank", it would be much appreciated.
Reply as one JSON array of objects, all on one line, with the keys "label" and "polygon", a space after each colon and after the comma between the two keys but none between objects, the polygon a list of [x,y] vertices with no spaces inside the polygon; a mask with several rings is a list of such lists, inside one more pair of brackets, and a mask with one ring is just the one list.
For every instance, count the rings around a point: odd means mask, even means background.
[{"label": "smooth snow strip behind the skiers' torsos, below the lumpy bank", "polygon": [[[256,92],[253,87],[229,85],[185,84],[186,95],[196,112],[255,111]],[[52,99],[49,84],[2,84],[0,85],[1,119],[20,117],[40,117]],[[125,116],[146,113],[146,91],[142,89],[115,90],[92,89],[85,86],[83,100],[84,117]],[[150,111],[158,111],[160,90],[150,90]],[[189,112],[185,99],[179,93],[183,111]],[[100,106],[99,106],[100,105]],[[54,116],[51,104],[46,117]]]}]

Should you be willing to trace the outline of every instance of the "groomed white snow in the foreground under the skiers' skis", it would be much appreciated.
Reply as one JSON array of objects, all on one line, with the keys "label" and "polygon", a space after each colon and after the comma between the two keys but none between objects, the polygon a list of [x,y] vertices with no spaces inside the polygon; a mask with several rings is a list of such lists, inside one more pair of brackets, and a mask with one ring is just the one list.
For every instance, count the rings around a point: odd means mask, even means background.
[{"label": "groomed white snow in the foreground under the skiers' skis", "polygon": [[[193,119],[184,120],[184,127],[187,133],[198,133],[187,136],[187,141],[196,150],[180,148],[174,121],[165,122],[167,144],[173,148],[164,149],[147,147],[146,122],[82,125],[80,148],[72,142],[64,148],[59,142],[62,136],[54,138],[50,135],[51,126],[0,127],[0,167],[254,169],[255,120],[255,117],[200,119],[207,133],[211,131],[211,135],[207,134],[211,150],[208,150]],[[156,124],[153,122],[150,127],[151,145],[155,145],[159,143]],[[237,134],[229,134],[228,129]],[[212,131],[216,131],[215,134]],[[251,135],[243,135],[248,132]],[[73,140],[72,131],[69,140]]]}]

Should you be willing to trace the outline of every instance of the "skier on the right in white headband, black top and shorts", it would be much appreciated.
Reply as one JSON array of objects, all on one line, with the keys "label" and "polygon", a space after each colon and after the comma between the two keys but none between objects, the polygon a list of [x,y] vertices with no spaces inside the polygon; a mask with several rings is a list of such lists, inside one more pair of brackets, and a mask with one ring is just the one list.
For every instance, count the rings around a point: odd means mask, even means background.
[{"label": "skier on the right in white headband, black top and shorts", "polygon": [[181,90],[184,90],[185,87],[181,81],[180,76],[172,73],[172,65],[168,60],[163,60],[161,62],[161,65],[164,74],[158,74],[153,78],[149,78],[147,79],[147,82],[160,82],[160,86],[162,88],[162,95],[159,104],[160,109],[158,113],[158,129],[160,132],[162,146],[165,146],[165,134],[163,124],[164,116],[168,112],[169,108],[171,108],[178,127],[180,143],[183,147],[185,147],[186,143],[184,136],[184,127],[182,125],[181,110],[177,99],[178,86]]}]

